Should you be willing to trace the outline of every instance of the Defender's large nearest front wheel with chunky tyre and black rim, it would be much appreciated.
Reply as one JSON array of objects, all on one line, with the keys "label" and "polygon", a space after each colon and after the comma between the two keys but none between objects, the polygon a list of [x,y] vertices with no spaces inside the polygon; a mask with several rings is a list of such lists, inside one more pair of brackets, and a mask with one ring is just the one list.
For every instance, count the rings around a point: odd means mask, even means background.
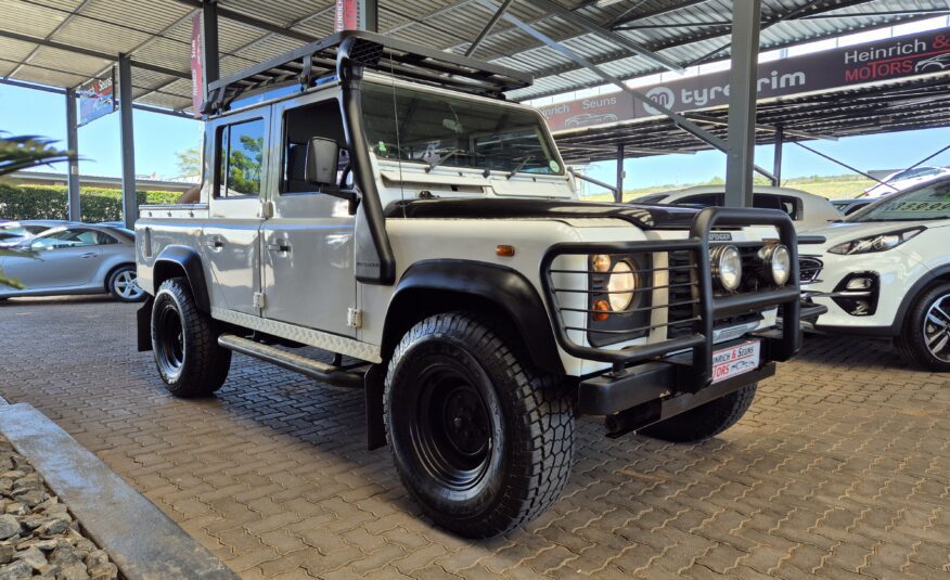
[{"label": "Defender's large nearest front wheel with chunky tyre and black rim", "polygon": [[544,512],[567,482],[567,389],[516,340],[466,313],[423,320],[386,375],[386,437],[410,494],[466,538],[504,533]]}]

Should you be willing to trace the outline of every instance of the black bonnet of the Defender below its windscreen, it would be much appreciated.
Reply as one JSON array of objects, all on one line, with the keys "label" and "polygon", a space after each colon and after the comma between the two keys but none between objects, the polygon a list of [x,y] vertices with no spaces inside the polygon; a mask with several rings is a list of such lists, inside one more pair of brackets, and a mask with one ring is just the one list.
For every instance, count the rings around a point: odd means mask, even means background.
[{"label": "black bonnet of the Defender below its windscreen", "polygon": [[386,207],[386,217],[391,218],[613,218],[642,230],[689,230],[696,214],[689,207],[556,199],[407,199]]}]

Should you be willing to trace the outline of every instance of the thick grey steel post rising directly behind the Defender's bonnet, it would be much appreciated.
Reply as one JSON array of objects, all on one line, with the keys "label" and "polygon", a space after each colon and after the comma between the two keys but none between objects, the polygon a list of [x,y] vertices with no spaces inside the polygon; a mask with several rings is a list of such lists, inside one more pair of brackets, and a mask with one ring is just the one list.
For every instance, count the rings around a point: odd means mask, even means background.
[{"label": "thick grey steel post rising directly behind the Defender's bonnet", "polygon": [[752,207],[756,145],[756,69],[759,60],[761,0],[732,4],[732,69],[729,74],[729,141],[726,206]]}]

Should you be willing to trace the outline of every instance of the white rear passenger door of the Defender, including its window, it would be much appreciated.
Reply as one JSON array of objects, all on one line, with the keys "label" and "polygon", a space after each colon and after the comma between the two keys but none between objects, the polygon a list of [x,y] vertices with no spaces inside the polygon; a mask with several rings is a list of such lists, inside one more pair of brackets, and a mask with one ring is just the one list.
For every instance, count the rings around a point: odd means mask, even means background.
[{"label": "white rear passenger door of the Defender, including its window", "polygon": [[211,306],[260,314],[260,225],[269,153],[269,107],[229,115],[211,127],[214,185],[202,256]]}]

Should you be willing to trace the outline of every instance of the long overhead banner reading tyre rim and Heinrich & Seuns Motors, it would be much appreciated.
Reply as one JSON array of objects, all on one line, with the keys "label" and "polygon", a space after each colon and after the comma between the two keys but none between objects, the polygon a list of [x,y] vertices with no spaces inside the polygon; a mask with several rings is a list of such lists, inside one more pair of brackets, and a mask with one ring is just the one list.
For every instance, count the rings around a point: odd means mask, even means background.
[{"label": "long overhead banner reading tyre rim and Heinrich & Seuns Motors", "polygon": [[[950,28],[760,63],[758,99],[950,72]],[[671,80],[638,91],[676,112],[729,105],[729,70]],[[540,107],[552,131],[659,115],[630,93],[617,92]]]}]

